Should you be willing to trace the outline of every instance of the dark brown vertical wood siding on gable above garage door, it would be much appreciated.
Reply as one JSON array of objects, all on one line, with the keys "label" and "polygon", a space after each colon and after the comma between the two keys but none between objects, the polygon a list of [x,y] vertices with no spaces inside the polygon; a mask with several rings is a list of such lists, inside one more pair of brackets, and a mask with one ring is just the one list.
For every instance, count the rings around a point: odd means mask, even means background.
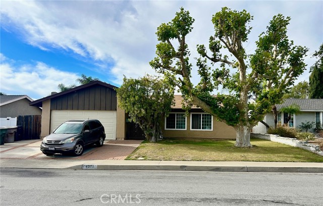
[{"label": "dark brown vertical wood siding on gable above garage door", "polygon": [[80,89],[50,100],[51,110],[117,110],[117,93],[102,85]]}]

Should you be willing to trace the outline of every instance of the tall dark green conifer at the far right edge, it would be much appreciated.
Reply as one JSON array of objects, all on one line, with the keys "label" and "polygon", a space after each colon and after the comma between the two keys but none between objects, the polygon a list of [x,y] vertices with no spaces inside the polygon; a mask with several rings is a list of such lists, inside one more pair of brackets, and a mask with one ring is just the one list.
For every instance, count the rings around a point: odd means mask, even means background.
[{"label": "tall dark green conifer at the far right edge", "polygon": [[318,60],[310,69],[309,97],[323,98],[323,44],[321,44],[319,50],[313,56],[318,58]]}]

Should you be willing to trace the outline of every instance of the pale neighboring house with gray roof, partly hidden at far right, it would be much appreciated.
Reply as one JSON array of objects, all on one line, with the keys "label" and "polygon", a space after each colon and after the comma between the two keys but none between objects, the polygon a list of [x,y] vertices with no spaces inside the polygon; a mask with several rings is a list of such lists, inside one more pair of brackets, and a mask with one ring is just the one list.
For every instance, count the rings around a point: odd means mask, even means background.
[{"label": "pale neighboring house with gray roof, partly hidden at far right", "polygon": [[[301,123],[306,122],[315,122],[316,124],[320,124],[322,126],[323,122],[323,99],[286,99],[285,102],[281,105],[277,105],[278,124],[283,125],[284,119],[288,118],[288,114],[280,113],[281,108],[285,108],[291,105],[298,105],[300,108],[299,114],[292,114],[291,120],[288,122],[287,126],[293,128],[299,128]],[[274,127],[274,115],[273,113],[267,113],[264,117],[263,121],[267,123],[269,126]],[[309,130],[313,132],[313,129]],[[253,127],[252,132],[254,133],[266,133],[267,129],[262,123],[258,123],[255,127]]]}]

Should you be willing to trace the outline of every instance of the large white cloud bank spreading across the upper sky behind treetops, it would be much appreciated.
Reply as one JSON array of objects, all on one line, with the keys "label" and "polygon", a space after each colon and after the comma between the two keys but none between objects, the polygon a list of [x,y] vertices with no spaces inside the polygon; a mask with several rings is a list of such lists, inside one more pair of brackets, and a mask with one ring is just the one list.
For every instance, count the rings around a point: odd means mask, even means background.
[{"label": "large white cloud bank spreading across the upper sky behind treetops", "polygon": [[[246,9],[254,16],[245,45],[249,52],[271,18],[282,13],[292,18],[290,38],[309,47],[311,54],[322,43],[322,5],[320,1],[3,1],[1,23],[8,29],[14,25],[29,44],[39,48],[72,50],[100,61],[103,70],[105,62],[114,62],[111,81],[121,84],[123,75],[136,78],[154,73],[148,62],[155,56],[156,28],[171,21],[182,6],[195,18],[187,38],[194,65],[196,44],[207,44],[213,34],[211,16],[221,7]],[[314,61],[306,58],[309,66]],[[300,79],[307,76],[308,72]],[[196,72],[193,79],[198,82]]]}]

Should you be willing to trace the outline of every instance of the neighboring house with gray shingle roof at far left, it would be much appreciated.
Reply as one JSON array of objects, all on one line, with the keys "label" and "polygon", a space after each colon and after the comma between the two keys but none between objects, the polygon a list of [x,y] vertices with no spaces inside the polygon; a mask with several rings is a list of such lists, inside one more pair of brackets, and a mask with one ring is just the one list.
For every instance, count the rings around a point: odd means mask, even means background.
[{"label": "neighboring house with gray shingle roof at far left", "polygon": [[39,107],[29,106],[31,101],[27,95],[0,95],[0,118],[41,115]]}]

